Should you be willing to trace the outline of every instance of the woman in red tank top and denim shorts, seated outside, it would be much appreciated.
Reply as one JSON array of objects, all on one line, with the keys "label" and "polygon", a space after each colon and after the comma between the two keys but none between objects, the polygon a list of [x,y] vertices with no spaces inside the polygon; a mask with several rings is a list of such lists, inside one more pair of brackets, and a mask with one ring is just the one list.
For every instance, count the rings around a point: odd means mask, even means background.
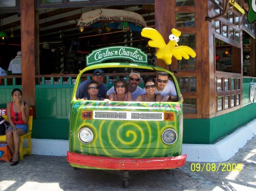
[{"label": "woman in red tank top and denim shorts, seated outside", "polygon": [[22,100],[22,91],[15,88],[11,92],[13,101],[7,103],[7,117],[10,123],[9,128],[6,130],[7,145],[13,152],[13,159],[11,165],[19,163],[19,146],[20,135],[24,135],[28,131],[28,118],[30,116],[30,105]]}]

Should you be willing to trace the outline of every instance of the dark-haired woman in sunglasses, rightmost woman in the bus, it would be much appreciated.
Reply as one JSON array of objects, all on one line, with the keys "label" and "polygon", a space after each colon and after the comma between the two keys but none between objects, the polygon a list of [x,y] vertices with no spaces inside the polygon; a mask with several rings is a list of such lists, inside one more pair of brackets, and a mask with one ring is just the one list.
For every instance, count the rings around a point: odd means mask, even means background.
[{"label": "dark-haired woman in sunglasses, rightmost woman in the bus", "polygon": [[138,95],[135,101],[161,101],[162,95],[155,95],[156,83],[154,78],[148,78],[145,81],[146,94]]}]

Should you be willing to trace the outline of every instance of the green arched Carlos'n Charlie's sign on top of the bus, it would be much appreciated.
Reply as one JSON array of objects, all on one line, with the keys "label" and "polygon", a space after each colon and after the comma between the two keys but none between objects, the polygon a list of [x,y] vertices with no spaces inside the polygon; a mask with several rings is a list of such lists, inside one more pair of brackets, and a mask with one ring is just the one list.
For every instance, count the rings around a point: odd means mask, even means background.
[{"label": "green arched Carlos'n Charlie's sign on top of the bus", "polygon": [[92,53],[86,56],[86,66],[114,59],[126,59],[132,62],[147,64],[147,54],[142,52],[141,49],[127,46],[112,46],[93,50]]}]

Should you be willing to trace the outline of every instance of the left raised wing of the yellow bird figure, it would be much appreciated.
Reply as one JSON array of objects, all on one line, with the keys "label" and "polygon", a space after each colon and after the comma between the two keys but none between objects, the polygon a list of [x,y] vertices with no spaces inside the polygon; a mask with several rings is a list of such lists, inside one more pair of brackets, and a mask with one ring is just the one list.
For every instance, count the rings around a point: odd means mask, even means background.
[{"label": "left raised wing of the yellow bird figure", "polygon": [[162,35],[160,35],[160,33],[154,28],[143,28],[141,36],[151,39],[148,41],[148,45],[151,47],[164,48],[164,46],[166,46],[166,42],[164,41]]}]

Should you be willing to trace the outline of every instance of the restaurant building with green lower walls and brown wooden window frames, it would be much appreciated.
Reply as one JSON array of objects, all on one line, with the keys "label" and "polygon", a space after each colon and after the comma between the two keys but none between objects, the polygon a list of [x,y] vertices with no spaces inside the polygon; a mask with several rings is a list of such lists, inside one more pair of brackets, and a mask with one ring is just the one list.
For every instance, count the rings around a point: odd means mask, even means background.
[{"label": "restaurant building with green lower walls and brown wooden window frames", "polygon": [[[256,117],[256,13],[251,0],[8,2],[0,3],[1,15],[20,14],[22,86],[8,84],[11,77],[1,77],[0,107],[6,107],[11,100],[10,92],[14,87],[22,88],[24,99],[34,108],[34,142],[46,140],[42,142],[46,144],[53,139],[68,140],[71,79],[76,77],[75,74],[58,75],[59,84],[46,84],[44,78],[54,80],[53,76],[40,74],[42,43],[39,26],[42,23],[39,22],[39,11],[46,9],[153,7],[154,18],[142,14],[144,18],[151,18],[147,26],[158,30],[166,42],[171,29],[179,29],[179,45],[190,46],[196,52],[196,57],[189,60],[172,58],[172,70],[177,71],[175,75],[184,97],[184,143],[213,144]],[[1,60],[4,56],[1,54]],[[168,69],[163,61],[156,60],[156,65]],[[69,78],[68,84],[62,82],[64,77]]]}]

